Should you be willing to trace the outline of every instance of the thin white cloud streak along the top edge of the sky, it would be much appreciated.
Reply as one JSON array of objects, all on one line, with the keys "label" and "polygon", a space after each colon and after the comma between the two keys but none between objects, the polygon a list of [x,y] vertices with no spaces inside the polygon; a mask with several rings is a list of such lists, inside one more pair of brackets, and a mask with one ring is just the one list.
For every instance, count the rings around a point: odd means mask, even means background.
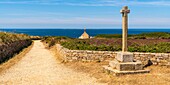
[{"label": "thin white cloud streak along the top edge of the sky", "polygon": [[68,6],[122,6],[122,5],[153,5],[170,6],[168,0],[8,0],[0,1],[0,4],[39,4],[39,5],[68,5]]}]

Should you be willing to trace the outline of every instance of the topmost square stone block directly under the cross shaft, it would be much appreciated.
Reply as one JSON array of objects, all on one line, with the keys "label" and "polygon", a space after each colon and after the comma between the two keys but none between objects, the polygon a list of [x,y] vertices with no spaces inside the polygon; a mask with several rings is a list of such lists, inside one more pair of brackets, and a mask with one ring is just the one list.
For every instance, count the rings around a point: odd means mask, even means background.
[{"label": "topmost square stone block directly under the cross shaft", "polygon": [[117,53],[116,59],[120,62],[133,62],[133,53]]}]

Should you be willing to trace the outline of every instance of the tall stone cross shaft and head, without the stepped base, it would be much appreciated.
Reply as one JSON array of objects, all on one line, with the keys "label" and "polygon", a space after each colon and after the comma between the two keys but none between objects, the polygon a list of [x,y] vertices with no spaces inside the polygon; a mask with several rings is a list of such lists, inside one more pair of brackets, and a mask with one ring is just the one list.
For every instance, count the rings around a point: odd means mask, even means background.
[{"label": "tall stone cross shaft and head, without the stepped base", "polygon": [[128,6],[124,6],[122,10],[120,10],[120,13],[122,14],[122,32],[123,32],[122,52],[127,52],[128,13],[130,13]]}]

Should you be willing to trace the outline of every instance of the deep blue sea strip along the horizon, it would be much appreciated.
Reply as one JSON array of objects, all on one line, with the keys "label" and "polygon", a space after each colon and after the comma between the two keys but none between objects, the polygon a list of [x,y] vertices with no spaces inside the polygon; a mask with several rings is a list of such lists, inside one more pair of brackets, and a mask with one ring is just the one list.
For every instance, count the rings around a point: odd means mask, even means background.
[{"label": "deep blue sea strip along the horizon", "polygon": [[[84,32],[84,29],[0,29],[3,32],[13,32],[13,33],[23,33],[32,36],[67,36],[71,38],[78,38]],[[98,34],[121,34],[122,29],[86,29],[86,32],[90,36],[96,36]],[[169,32],[170,29],[128,29],[128,34],[140,34],[140,33],[150,33],[150,32]]]}]

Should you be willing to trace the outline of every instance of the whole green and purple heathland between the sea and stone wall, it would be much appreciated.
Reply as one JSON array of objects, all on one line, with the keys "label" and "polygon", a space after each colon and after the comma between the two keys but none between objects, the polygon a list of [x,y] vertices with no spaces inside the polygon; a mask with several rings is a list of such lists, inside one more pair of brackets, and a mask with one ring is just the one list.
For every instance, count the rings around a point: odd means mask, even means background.
[{"label": "whole green and purple heathland between the sea and stone wall", "polygon": [[[145,37],[145,38],[141,38]],[[121,51],[121,35],[97,35],[93,39],[72,39],[68,37],[45,37],[44,42],[50,46],[56,43],[71,50]],[[169,33],[148,33],[129,35],[128,51],[170,53]]]}]

